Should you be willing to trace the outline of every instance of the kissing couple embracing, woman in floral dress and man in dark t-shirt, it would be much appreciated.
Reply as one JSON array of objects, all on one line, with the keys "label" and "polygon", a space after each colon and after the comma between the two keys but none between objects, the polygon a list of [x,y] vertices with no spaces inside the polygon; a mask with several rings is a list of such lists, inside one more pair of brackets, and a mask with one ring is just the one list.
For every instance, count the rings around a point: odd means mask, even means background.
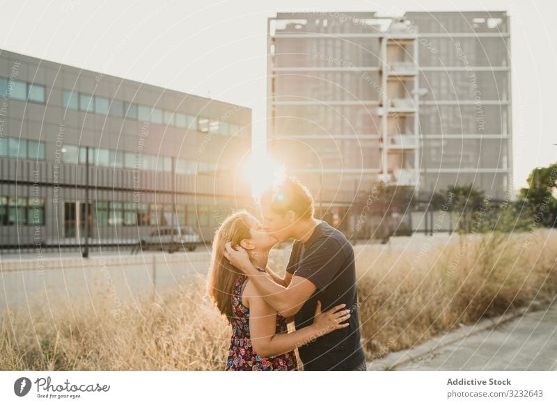
[{"label": "kissing couple embracing, woman in floral dress and man in dark t-shirt", "polygon": [[[299,370],[295,349],[304,371],[366,370],[349,241],[315,219],[313,197],[295,177],[275,182],[259,205],[262,221],[235,212],[212,245],[209,294],[232,327],[225,370]],[[267,259],[290,238],[281,277]]]}]

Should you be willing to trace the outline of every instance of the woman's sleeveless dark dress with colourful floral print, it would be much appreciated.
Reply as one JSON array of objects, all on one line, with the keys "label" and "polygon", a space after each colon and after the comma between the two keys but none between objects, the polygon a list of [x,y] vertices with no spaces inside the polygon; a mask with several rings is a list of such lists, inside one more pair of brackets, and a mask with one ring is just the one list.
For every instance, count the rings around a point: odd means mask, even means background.
[{"label": "woman's sleeveless dark dress with colourful floral print", "polygon": [[[238,276],[232,294],[233,335],[230,337],[226,371],[270,371],[270,370],[298,370],[295,352],[288,351],[273,357],[261,357],[251,347],[249,335],[249,308],[242,305],[242,285],[247,279],[245,274]],[[281,314],[276,315],[276,332],[288,333],[286,319]]]}]

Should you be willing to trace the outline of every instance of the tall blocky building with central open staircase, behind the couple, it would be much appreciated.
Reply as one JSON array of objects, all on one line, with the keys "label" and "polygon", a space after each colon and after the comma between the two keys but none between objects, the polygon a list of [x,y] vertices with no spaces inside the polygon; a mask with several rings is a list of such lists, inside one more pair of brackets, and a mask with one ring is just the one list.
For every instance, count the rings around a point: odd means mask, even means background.
[{"label": "tall blocky building with central open staircase, behind the couple", "polygon": [[423,199],[467,184],[504,198],[509,49],[505,12],[278,13],[268,21],[269,152],[349,234],[363,213],[354,202],[373,203],[378,180]]}]

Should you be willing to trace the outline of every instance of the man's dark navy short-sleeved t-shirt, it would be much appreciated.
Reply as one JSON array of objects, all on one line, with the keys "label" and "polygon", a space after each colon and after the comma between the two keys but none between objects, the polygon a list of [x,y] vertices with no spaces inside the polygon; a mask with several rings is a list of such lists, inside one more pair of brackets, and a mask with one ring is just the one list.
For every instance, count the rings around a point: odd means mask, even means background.
[{"label": "man's dark navy short-sleeved t-shirt", "polygon": [[345,303],[350,326],[317,337],[299,347],[304,370],[354,370],[365,356],[360,344],[354,249],[342,232],[322,221],[311,237],[292,245],[288,273],[310,280],[317,289],[295,315],[296,329],[313,323],[317,300],[325,312]]}]

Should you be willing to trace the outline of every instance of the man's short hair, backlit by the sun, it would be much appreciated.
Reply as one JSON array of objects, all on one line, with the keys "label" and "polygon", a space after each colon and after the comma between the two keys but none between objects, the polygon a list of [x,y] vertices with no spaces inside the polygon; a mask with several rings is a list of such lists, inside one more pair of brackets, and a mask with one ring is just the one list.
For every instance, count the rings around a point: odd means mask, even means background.
[{"label": "man's short hair, backlit by the sun", "polygon": [[311,192],[296,177],[277,180],[262,193],[261,200],[269,202],[276,214],[284,215],[292,211],[303,219],[310,219],[315,214]]}]

